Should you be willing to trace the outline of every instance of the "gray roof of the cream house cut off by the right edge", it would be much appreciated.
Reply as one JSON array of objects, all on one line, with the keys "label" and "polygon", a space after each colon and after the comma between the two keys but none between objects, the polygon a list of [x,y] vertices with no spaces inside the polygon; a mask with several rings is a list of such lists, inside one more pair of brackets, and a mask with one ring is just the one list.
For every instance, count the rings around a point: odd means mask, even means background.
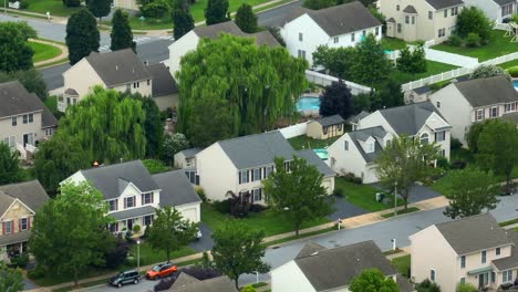
[{"label": "gray roof of the cream house cut off by the right edge", "polygon": [[504,76],[457,82],[454,86],[473,107],[518,101],[518,92]]}]

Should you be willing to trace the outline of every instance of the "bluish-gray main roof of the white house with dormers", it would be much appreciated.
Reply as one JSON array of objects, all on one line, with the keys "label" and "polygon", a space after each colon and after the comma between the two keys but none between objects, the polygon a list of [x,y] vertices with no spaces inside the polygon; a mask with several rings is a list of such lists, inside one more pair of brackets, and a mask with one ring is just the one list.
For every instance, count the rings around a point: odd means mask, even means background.
[{"label": "bluish-gray main roof of the white house with dormers", "polygon": [[417,134],[434,112],[442,117],[429,101],[380,109],[382,116],[398,135],[410,136]]}]

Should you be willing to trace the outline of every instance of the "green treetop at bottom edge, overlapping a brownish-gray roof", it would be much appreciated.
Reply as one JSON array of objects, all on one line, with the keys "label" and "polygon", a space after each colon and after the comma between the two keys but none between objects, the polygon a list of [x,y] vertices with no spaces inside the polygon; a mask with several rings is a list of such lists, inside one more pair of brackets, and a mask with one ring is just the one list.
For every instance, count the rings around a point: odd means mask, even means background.
[{"label": "green treetop at bottom edge, overlapping a brownish-gray roof", "polygon": [[377,269],[369,269],[354,278],[349,285],[351,292],[400,292],[397,284]]}]

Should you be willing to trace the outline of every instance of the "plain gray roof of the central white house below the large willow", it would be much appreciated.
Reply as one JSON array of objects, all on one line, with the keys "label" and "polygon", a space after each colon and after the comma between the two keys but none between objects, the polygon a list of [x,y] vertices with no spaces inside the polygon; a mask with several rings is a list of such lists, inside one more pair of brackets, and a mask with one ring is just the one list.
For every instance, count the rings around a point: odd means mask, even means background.
[{"label": "plain gray roof of the central white house below the large willow", "polygon": [[276,157],[297,154],[278,131],[217,142],[238,169],[273,164]]}]

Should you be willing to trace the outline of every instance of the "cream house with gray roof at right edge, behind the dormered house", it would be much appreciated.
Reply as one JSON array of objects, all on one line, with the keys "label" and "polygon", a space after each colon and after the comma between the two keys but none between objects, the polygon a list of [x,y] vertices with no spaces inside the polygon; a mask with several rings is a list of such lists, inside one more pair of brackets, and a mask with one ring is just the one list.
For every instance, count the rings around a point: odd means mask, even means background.
[{"label": "cream house with gray roof at right edge, behind the dormered house", "polygon": [[452,83],[432,94],[429,101],[453,126],[452,136],[465,146],[474,123],[490,118],[518,123],[518,92],[504,76]]}]

